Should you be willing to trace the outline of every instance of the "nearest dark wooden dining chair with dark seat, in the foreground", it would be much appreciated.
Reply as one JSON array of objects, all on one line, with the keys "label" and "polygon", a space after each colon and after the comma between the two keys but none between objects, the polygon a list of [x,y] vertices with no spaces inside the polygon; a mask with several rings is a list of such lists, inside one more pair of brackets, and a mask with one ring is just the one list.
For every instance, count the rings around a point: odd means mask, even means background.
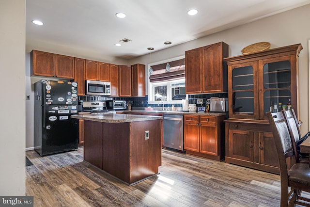
[{"label": "nearest dark wooden dining chair with dark seat, in the foreground", "polygon": [[[310,192],[309,164],[296,161],[289,168],[286,162],[287,159],[293,158],[293,160],[296,160],[298,157],[294,151],[285,116],[281,111],[276,113],[269,111],[267,117],[278,152],[281,179],[280,207],[293,207],[296,204],[310,207],[310,199],[301,196],[302,191]],[[290,192],[289,187],[291,188]]]}]

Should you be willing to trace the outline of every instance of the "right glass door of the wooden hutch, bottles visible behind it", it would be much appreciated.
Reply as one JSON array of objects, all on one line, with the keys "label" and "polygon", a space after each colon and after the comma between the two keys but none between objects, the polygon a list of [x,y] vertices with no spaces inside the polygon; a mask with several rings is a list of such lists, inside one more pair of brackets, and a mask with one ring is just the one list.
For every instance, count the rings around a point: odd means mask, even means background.
[{"label": "right glass door of the wooden hutch, bottles visible behind it", "polygon": [[[292,107],[291,95],[291,62],[283,60],[279,62],[266,61],[260,63],[263,67],[263,85],[260,90],[263,94],[263,107],[261,107],[260,116],[267,119],[266,112],[282,111]],[[263,110],[263,111],[262,111]]]}]

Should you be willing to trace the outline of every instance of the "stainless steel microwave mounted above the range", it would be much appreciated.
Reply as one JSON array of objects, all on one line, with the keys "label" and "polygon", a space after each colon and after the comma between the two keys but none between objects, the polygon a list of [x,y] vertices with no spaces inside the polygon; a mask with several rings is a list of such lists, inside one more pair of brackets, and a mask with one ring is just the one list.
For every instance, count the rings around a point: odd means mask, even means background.
[{"label": "stainless steel microwave mounted above the range", "polygon": [[111,83],[86,80],[86,95],[111,96]]}]

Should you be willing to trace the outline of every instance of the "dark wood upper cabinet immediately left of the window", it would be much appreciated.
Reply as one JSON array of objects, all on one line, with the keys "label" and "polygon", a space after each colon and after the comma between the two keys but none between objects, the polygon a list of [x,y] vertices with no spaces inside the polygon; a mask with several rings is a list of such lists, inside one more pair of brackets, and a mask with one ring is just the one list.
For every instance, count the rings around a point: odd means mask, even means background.
[{"label": "dark wood upper cabinet immediately left of the window", "polygon": [[145,96],[145,65],[134,64],[131,66],[131,96]]}]

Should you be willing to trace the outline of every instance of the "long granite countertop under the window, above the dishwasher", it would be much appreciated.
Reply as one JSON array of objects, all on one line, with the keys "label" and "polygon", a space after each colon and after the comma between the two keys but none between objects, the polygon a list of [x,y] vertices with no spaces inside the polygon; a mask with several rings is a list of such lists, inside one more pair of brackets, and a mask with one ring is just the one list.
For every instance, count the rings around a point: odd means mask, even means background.
[{"label": "long granite countertop under the window, above the dishwasher", "polygon": [[182,114],[182,115],[205,115],[205,116],[226,116],[228,112],[189,112],[189,111],[149,111],[149,110],[131,110],[131,111],[116,111],[116,112],[124,112],[124,113],[162,113],[162,114]]}]

